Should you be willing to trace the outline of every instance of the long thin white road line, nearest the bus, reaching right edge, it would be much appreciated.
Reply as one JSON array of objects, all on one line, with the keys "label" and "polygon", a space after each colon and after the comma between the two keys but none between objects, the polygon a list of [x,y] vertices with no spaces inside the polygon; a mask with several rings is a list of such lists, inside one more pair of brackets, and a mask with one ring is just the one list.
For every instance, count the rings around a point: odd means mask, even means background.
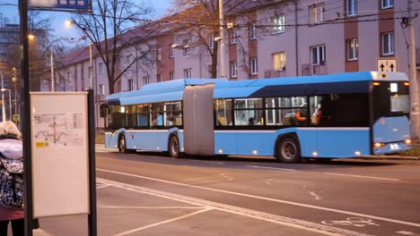
[{"label": "long thin white road line, nearest the bus, reaching right edge", "polygon": [[267,201],[272,201],[272,202],[283,203],[283,204],[287,204],[287,205],[308,207],[308,208],[312,208],[312,209],[324,210],[324,211],[328,211],[328,212],[334,212],[334,213],[345,214],[345,215],[361,216],[361,217],[365,217],[365,218],[372,218],[372,219],[375,219],[375,220],[386,221],[386,222],[391,222],[391,223],[406,224],[406,225],[415,226],[415,227],[419,227],[420,228],[420,223],[412,223],[412,222],[400,221],[400,220],[385,218],[385,217],[381,217],[381,216],[366,215],[366,214],[361,214],[361,213],[357,213],[357,212],[351,212],[351,211],[345,211],[345,210],[338,210],[338,209],[328,208],[328,207],[324,207],[324,206],[313,206],[313,205],[309,205],[309,204],[303,204],[303,203],[298,203],[298,202],[280,200],[280,199],[276,199],[276,198],[266,198],[266,197],[261,197],[261,196],[256,196],[256,195],[250,195],[250,194],[240,193],[240,192],[233,192],[233,191],[228,191],[228,190],[217,190],[217,189],[212,189],[212,188],[207,188],[207,187],[201,187],[201,186],[195,186],[195,185],[190,185],[190,184],[181,183],[181,182],[165,181],[165,180],[160,180],[160,179],[156,179],[156,178],[146,177],[146,176],[142,176],[142,175],[136,175],[136,174],[132,174],[132,173],[120,173],[120,172],[115,172],[115,171],[110,171],[110,170],[105,170],[105,169],[100,169],[100,168],[97,168],[96,170],[97,171],[101,171],[101,172],[106,172],[106,173],[116,173],[116,174],[120,174],[120,175],[125,175],[125,176],[130,176],[130,177],[136,177],[136,178],[144,179],[144,180],[160,181],[160,182],[170,183],[170,184],[174,184],[174,185],[179,185],[179,186],[184,186],[184,187],[189,187],[189,188],[195,188],[195,189],[198,189],[198,190],[209,190],[209,191],[215,191],[215,192],[222,192],[222,193],[232,194],[232,195],[241,196],[241,197],[256,198],[256,199],[261,199],[261,200],[267,200]]}]

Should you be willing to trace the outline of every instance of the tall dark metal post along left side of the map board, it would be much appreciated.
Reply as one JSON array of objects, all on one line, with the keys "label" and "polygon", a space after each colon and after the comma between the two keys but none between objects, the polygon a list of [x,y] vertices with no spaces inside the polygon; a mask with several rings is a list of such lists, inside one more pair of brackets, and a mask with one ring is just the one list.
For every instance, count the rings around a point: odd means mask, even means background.
[{"label": "tall dark metal post along left side of the map board", "polygon": [[33,235],[33,202],[32,202],[32,153],[31,153],[31,98],[28,46],[28,1],[19,1],[19,15],[21,22],[21,117],[23,142],[23,186],[25,208],[25,235]]}]

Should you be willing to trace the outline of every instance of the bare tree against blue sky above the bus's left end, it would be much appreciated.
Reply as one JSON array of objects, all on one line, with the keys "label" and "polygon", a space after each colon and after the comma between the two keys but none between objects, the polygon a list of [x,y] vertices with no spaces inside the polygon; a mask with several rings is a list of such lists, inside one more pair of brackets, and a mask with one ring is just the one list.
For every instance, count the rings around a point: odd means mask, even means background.
[{"label": "bare tree against blue sky above the bus's left end", "polygon": [[118,68],[119,52],[145,40],[147,33],[139,26],[149,21],[147,17],[152,8],[147,7],[144,1],[134,0],[92,0],[92,8],[90,14],[74,14],[72,21],[83,30],[101,57],[109,81],[109,94],[112,94],[115,83],[124,72],[148,53],[136,55],[125,68]]}]

